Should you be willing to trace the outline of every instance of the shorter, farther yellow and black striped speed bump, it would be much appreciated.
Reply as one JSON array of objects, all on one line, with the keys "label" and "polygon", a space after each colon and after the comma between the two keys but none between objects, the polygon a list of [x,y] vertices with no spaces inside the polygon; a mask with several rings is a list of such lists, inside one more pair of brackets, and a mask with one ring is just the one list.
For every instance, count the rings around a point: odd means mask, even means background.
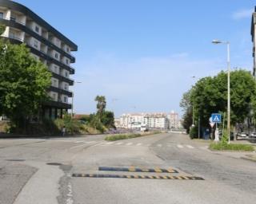
[{"label": "shorter, farther yellow and black striped speed bump", "polygon": [[148,173],[178,173],[173,168],[162,169],[162,168],[121,168],[121,167],[98,167],[98,171],[127,171],[127,172],[148,172]]}]

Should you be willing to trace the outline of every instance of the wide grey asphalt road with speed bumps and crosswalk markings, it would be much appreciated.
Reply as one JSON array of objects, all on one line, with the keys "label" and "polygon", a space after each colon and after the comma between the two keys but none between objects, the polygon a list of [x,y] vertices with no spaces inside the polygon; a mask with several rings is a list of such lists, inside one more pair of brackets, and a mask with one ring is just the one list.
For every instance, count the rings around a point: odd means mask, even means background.
[{"label": "wide grey asphalt road with speed bumps and crosswalk markings", "polygon": [[174,133],[0,139],[0,203],[255,203],[256,163],[207,145]]}]

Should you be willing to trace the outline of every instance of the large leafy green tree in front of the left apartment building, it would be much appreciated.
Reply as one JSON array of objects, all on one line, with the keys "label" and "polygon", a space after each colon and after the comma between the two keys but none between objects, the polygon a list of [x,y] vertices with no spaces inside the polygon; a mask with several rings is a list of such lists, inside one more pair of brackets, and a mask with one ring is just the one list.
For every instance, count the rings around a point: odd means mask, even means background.
[{"label": "large leafy green tree in front of the left apartment building", "polygon": [[13,45],[0,39],[0,115],[6,115],[16,128],[25,128],[31,116],[38,115],[48,100],[51,74],[26,45]]}]

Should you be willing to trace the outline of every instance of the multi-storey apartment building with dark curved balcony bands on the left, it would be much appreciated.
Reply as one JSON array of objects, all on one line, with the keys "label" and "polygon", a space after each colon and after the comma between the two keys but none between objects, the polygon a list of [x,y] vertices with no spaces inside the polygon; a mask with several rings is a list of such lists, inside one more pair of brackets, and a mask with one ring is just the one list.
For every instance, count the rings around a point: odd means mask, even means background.
[{"label": "multi-storey apartment building with dark curved balcony bands on the left", "polygon": [[31,55],[50,70],[51,86],[47,91],[51,100],[43,104],[42,116],[53,119],[62,117],[63,112],[71,108],[69,98],[73,93],[70,86],[74,80],[70,79],[70,75],[74,74],[71,64],[75,62],[71,52],[77,51],[78,46],[17,2],[0,0],[0,24],[6,26],[1,37],[8,38],[14,44],[25,43]]}]

